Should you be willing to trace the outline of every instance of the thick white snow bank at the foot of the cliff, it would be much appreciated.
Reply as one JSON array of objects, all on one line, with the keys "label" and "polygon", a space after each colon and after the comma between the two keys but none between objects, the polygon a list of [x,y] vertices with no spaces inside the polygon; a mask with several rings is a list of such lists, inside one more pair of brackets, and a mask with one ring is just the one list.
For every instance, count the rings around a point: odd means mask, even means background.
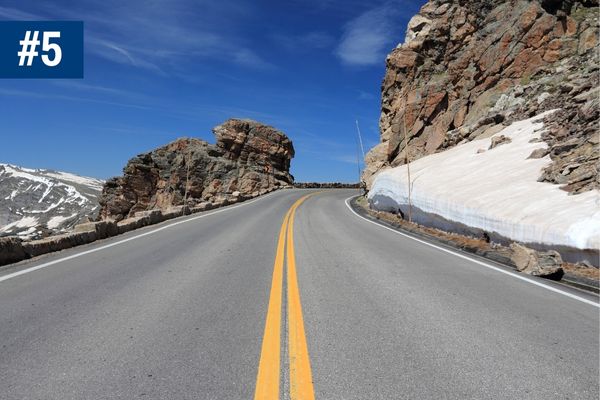
[{"label": "thick white snow bank at the foot of the cliff", "polygon": [[[520,242],[600,248],[599,192],[572,196],[558,185],[537,182],[550,158],[527,158],[546,147],[544,142],[531,142],[539,138],[545,114],[497,133],[494,136],[508,136],[512,142],[491,150],[491,138],[486,138],[412,162],[413,205]],[[485,151],[478,153],[480,149]],[[372,206],[406,211],[406,175],[405,165],[380,172],[368,195]]]}]

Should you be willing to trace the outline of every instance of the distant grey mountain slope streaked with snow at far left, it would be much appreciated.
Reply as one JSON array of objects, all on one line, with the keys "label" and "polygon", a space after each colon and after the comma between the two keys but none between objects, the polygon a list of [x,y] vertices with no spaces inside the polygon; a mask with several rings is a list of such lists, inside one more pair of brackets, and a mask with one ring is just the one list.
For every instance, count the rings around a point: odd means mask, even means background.
[{"label": "distant grey mountain slope streaked with snow at far left", "polygon": [[95,218],[104,181],[0,163],[0,236],[42,237]]}]

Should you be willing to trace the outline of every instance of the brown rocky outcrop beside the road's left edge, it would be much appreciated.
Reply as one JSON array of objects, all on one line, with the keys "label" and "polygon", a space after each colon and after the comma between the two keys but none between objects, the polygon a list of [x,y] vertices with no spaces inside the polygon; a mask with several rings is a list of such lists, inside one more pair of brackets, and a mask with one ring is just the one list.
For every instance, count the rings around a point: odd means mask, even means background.
[{"label": "brown rocky outcrop beside the road's left edge", "polygon": [[[121,220],[137,211],[238,201],[293,183],[294,147],[277,129],[230,119],[213,128],[216,144],[178,139],[127,163],[104,186],[100,217]],[[187,184],[186,184],[187,183]]]}]

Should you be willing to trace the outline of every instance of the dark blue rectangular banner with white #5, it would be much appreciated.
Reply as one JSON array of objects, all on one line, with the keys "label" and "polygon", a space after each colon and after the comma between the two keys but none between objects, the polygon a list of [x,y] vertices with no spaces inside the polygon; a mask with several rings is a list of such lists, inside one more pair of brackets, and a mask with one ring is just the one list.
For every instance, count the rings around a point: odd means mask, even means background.
[{"label": "dark blue rectangular banner with white #5", "polygon": [[0,21],[0,78],[83,78],[83,22]]}]

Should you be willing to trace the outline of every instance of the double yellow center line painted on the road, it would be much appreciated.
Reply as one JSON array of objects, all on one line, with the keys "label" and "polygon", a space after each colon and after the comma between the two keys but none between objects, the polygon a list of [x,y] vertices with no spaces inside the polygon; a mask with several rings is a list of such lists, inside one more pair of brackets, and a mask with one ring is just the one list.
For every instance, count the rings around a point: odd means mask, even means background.
[{"label": "double yellow center line painted on the road", "polygon": [[286,237],[290,399],[312,400],[315,398],[294,254],[294,215],[300,204],[311,195],[301,197],[292,205],[283,219],[279,232],[265,333],[260,353],[260,362],[258,364],[258,375],[256,377],[255,400],[279,399],[279,381],[281,376],[281,304]]}]

